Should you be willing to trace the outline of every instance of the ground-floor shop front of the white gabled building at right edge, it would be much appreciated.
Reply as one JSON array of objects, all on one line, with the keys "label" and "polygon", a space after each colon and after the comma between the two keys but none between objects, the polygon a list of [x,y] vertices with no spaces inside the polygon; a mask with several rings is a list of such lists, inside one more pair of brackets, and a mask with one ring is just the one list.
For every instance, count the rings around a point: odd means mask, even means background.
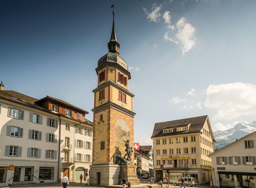
[{"label": "ground-floor shop front of the white gabled building at right edge", "polygon": [[243,173],[243,172],[220,172],[219,183],[220,187],[229,188],[255,188],[256,173]]}]

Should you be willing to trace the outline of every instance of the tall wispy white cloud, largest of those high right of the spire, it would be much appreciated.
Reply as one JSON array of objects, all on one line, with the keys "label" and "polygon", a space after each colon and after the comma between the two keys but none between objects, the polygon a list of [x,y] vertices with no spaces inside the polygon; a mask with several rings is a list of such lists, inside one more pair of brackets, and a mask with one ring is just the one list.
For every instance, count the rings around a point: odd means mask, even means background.
[{"label": "tall wispy white cloud, largest of those high right of the spire", "polygon": [[195,38],[195,28],[187,22],[185,17],[182,17],[177,23],[176,23],[176,29],[177,33],[173,38],[168,36],[168,33],[165,33],[164,39],[170,40],[171,42],[174,42],[176,44],[181,45],[182,53],[183,55],[185,52],[193,49],[193,46],[195,46],[196,38]]}]

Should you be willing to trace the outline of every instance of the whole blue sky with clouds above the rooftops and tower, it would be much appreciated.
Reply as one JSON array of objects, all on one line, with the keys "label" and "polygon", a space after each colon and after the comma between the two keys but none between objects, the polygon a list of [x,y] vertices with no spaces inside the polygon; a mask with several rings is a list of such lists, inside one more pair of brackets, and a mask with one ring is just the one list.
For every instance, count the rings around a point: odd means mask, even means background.
[{"label": "whole blue sky with clouds above the rooftops and tower", "polygon": [[[112,9],[131,71],[135,141],[154,123],[209,115],[213,130],[256,120],[256,1],[0,1],[0,80],[88,110]],[[141,134],[143,132],[144,134]]]}]

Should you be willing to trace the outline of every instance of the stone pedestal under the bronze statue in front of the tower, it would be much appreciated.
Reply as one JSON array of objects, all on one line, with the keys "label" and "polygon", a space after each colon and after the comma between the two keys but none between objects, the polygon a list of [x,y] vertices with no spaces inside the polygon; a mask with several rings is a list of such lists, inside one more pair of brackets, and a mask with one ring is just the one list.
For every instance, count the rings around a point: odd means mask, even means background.
[{"label": "stone pedestal under the bronze statue in front of the tower", "polygon": [[140,185],[140,180],[136,175],[136,170],[133,163],[128,165],[120,165],[119,185],[124,177],[126,177],[127,182],[131,182],[131,185]]}]

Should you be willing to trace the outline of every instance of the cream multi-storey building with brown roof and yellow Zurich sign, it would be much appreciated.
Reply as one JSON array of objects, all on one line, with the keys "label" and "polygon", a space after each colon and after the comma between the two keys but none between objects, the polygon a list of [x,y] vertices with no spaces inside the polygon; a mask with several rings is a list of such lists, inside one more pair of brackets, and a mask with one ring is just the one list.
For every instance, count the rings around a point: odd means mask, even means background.
[{"label": "cream multi-storey building with brown roof and yellow Zurich sign", "polygon": [[194,177],[199,184],[212,180],[211,158],[215,142],[208,116],[156,123],[152,134],[154,176],[170,183]]}]

